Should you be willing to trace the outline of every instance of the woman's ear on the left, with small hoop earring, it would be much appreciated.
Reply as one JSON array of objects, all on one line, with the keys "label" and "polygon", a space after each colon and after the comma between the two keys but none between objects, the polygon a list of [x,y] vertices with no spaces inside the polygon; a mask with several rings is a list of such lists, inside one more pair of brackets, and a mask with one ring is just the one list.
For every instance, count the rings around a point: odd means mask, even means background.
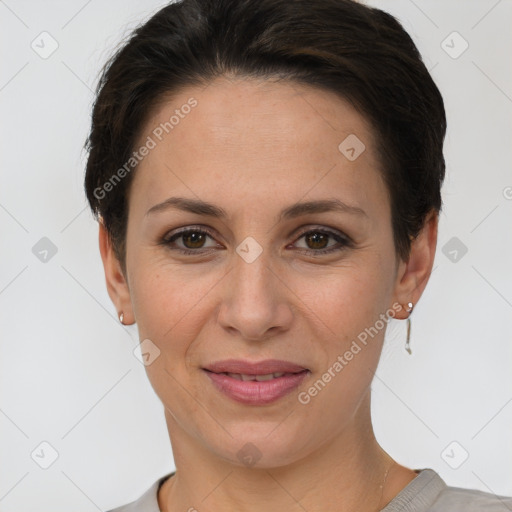
[{"label": "woman's ear on the left, with small hoop earring", "polygon": [[123,274],[121,263],[114,252],[110,236],[101,221],[99,222],[99,245],[110,299],[114,303],[118,315],[123,313],[123,324],[133,324],[135,319],[128,282]]}]

